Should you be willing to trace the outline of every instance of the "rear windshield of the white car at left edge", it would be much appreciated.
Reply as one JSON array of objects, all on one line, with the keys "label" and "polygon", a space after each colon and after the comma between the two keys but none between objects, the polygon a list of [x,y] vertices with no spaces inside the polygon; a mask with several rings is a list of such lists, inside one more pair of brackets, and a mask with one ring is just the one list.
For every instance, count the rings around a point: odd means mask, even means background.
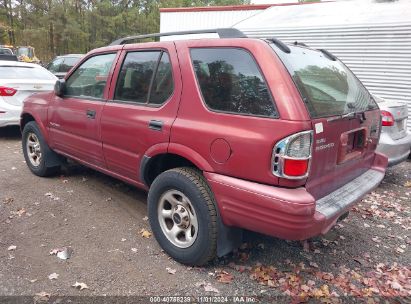
[{"label": "rear windshield of the white car at left edge", "polygon": [[0,66],[1,79],[36,79],[54,80],[56,79],[46,69],[41,67],[19,67],[19,66]]}]

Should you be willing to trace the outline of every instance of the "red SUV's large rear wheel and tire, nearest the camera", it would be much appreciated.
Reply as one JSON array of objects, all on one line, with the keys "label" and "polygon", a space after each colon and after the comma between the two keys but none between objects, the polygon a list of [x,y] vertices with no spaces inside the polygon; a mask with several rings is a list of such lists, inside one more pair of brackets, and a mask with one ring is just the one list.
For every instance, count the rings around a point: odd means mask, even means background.
[{"label": "red SUV's large rear wheel and tire, nearest the camera", "polygon": [[201,173],[176,168],[160,174],[148,193],[151,229],[176,261],[201,266],[215,258],[217,211]]}]

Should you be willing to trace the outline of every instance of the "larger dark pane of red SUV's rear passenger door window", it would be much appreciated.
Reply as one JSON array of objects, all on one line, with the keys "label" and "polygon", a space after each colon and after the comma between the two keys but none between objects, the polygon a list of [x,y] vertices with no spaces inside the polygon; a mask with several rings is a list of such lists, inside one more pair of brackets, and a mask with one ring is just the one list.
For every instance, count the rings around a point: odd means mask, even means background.
[{"label": "larger dark pane of red SUV's rear passenger door window", "polygon": [[121,67],[114,99],[147,103],[151,79],[160,53],[128,53]]}]

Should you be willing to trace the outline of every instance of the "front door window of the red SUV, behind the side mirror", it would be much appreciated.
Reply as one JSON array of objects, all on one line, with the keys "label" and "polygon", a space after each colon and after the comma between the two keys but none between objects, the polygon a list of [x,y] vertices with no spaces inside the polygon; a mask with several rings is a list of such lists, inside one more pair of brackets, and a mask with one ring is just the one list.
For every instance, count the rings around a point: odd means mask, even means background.
[{"label": "front door window of the red SUV, behind the side mirror", "polygon": [[66,81],[66,94],[103,98],[107,77],[116,54],[97,55],[83,62]]}]

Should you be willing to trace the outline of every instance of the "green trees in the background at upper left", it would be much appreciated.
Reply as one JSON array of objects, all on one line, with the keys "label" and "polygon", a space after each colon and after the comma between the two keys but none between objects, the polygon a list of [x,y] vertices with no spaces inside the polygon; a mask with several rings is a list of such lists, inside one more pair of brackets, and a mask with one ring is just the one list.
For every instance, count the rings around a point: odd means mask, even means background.
[{"label": "green trees in the background at upper left", "polygon": [[31,45],[48,60],[159,31],[160,7],[248,4],[249,0],[0,0],[0,44]]}]

